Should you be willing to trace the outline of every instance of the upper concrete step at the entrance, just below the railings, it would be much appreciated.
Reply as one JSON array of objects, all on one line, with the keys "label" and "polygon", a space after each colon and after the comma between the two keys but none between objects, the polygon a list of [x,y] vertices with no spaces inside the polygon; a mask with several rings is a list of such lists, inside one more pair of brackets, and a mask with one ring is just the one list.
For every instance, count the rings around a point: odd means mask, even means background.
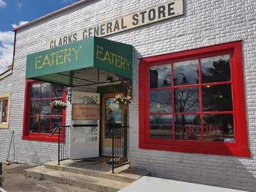
[{"label": "upper concrete step at the entrance, just below the railings", "polygon": [[141,177],[147,175],[150,176],[150,173],[145,170],[131,169],[129,165],[122,166],[120,168],[115,169],[115,173],[112,172],[100,172],[97,170],[88,170],[81,168],[68,167],[67,164],[70,163],[71,160],[66,160],[61,162],[61,165],[58,165],[58,161],[51,161],[49,163],[45,163],[44,166],[47,169],[58,170],[70,173],[78,173],[81,175],[88,175],[92,177],[100,177],[104,179],[118,180],[121,182],[134,182],[135,180],[140,179]]}]

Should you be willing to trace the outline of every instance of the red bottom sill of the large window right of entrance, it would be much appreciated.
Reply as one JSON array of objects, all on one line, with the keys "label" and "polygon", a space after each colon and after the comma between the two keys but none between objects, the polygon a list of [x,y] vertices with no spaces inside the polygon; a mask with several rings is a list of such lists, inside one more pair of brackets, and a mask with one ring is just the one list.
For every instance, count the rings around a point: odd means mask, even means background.
[{"label": "red bottom sill of the large window right of entrance", "polygon": [[[242,148],[230,148],[227,146],[227,143],[221,143],[223,147],[216,147],[216,145],[212,147],[209,147],[209,146],[202,147],[202,144],[203,143],[198,143],[198,145],[201,145],[199,147],[199,146],[196,146],[196,143],[194,143],[194,145],[192,146],[140,143],[139,147],[142,149],[148,149],[148,150],[165,150],[165,151],[184,152],[184,153],[191,153],[191,154],[211,154],[211,155],[219,155],[219,156],[250,157],[250,150],[242,149]],[[232,143],[232,144],[236,145],[235,143]]]}]

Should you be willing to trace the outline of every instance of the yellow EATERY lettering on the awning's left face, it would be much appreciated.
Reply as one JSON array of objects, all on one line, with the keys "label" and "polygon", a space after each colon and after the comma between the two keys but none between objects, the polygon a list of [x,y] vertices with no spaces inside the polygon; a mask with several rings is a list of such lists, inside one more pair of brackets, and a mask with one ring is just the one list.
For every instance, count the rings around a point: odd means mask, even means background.
[{"label": "yellow EATERY lettering on the awning's left face", "polygon": [[54,65],[64,65],[71,60],[77,61],[83,46],[62,49],[60,51],[52,51],[49,54],[41,54],[35,57],[35,69],[43,69],[45,67],[53,67]]}]

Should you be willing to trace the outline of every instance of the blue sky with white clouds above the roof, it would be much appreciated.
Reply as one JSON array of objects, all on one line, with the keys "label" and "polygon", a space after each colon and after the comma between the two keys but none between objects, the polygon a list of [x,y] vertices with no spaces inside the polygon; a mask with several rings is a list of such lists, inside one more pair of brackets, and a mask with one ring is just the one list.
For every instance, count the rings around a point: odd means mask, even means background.
[{"label": "blue sky with white clouds above the roof", "polygon": [[13,26],[54,12],[78,0],[0,0],[0,74],[12,63]]}]

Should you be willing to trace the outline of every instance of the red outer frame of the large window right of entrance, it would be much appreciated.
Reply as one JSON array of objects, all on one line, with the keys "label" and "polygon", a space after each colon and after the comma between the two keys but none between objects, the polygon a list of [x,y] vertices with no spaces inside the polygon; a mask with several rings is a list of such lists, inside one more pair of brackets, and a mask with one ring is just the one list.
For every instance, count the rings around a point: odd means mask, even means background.
[{"label": "red outer frame of the large window right of entrance", "polygon": [[[230,54],[230,72],[232,83],[232,101],[234,115],[235,143],[220,141],[166,140],[149,136],[149,68],[179,61],[193,60],[202,57]],[[200,63],[199,63],[200,67]],[[200,75],[200,72],[199,72]],[[243,54],[242,42],[212,45],[189,51],[174,52],[159,56],[141,58],[139,64],[139,147],[152,150],[175,152],[216,154],[224,156],[250,157],[248,149],[246,109],[244,99]],[[208,83],[207,83],[208,84]],[[218,83],[209,83],[218,84]],[[225,84],[225,83],[221,83]],[[227,84],[227,83],[226,83]],[[200,84],[202,86],[202,83]],[[186,87],[186,86],[180,86]],[[200,91],[201,92],[201,91]],[[202,93],[200,93],[202,94]],[[200,97],[202,98],[202,97]],[[200,102],[202,104],[202,102]],[[202,109],[202,106],[200,107]],[[200,115],[202,115],[200,110]],[[217,114],[217,113],[216,113]],[[201,123],[201,126],[202,123]],[[174,129],[174,126],[173,126]],[[172,131],[173,132],[173,131]],[[202,128],[201,128],[202,133]]]}]

